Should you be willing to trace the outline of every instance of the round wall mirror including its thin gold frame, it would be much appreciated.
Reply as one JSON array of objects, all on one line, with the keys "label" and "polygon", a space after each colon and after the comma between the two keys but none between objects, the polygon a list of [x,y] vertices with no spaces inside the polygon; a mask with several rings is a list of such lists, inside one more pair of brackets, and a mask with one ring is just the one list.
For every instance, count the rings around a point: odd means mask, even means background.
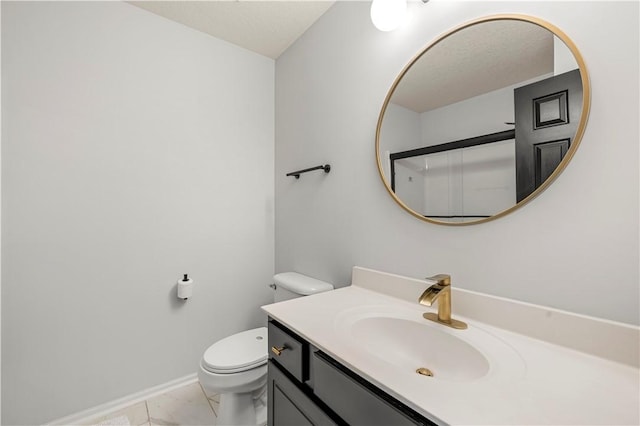
[{"label": "round wall mirror including its thin gold frame", "polygon": [[522,15],[467,23],[416,55],[391,86],[376,129],[380,176],[427,222],[496,219],[566,167],[589,102],[582,56],[558,28]]}]

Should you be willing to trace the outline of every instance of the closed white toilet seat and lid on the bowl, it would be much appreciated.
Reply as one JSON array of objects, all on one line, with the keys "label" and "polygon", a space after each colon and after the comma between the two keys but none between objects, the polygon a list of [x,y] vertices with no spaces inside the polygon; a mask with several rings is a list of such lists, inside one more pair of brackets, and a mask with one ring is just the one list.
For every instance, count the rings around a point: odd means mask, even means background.
[{"label": "closed white toilet seat and lid on the bowl", "polygon": [[209,346],[202,357],[202,366],[212,373],[238,373],[266,364],[267,354],[267,328],[259,327]]}]

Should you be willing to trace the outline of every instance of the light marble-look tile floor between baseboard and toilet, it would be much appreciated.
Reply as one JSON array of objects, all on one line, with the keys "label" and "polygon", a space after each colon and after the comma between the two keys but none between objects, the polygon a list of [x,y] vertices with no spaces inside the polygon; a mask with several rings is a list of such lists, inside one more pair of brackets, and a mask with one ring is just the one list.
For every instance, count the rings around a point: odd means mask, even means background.
[{"label": "light marble-look tile floor between baseboard and toilet", "polygon": [[196,382],[92,419],[85,425],[215,425],[219,401],[218,395],[207,396]]}]

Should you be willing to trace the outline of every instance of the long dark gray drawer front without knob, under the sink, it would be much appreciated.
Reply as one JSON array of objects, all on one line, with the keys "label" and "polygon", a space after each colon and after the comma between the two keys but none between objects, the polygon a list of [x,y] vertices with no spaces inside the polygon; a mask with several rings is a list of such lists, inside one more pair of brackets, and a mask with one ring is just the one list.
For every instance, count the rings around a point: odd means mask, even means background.
[{"label": "long dark gray drawer front without knob, under the sink", "polygon": [[322,352],[313,370],[315,394],[350,425],[435,425]]}]

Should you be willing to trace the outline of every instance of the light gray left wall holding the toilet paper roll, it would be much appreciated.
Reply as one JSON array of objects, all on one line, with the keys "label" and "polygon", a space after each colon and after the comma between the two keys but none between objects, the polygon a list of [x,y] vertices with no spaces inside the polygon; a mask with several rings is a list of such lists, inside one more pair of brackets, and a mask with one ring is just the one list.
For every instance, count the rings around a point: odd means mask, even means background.
[{"label": "light gray left wall holding the toilet paper roll", "polygon": [[263,324],[273,60],[125,3],[2,2],[2,89],[3,424],[193,374]]}]

